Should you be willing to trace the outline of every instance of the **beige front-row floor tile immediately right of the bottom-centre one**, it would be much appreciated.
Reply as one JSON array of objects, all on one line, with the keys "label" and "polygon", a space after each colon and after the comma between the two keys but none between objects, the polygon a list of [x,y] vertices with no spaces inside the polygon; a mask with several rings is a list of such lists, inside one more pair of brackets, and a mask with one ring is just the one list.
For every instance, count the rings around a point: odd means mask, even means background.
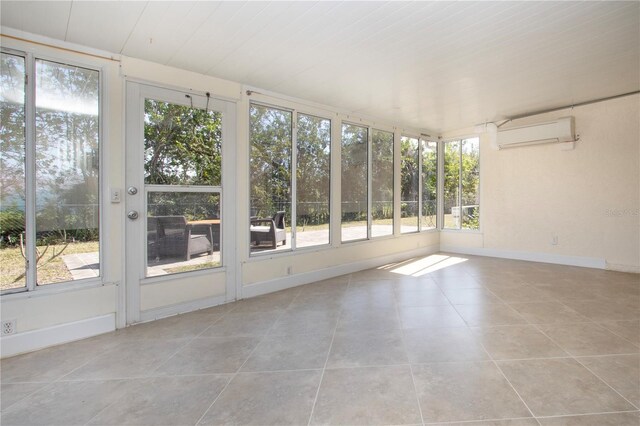
[{"label": "beige front-row floor tile immediately right of the bottom-centre one", "polygon": [[412,368],[425,423],[531,416],[493,362]]}]

